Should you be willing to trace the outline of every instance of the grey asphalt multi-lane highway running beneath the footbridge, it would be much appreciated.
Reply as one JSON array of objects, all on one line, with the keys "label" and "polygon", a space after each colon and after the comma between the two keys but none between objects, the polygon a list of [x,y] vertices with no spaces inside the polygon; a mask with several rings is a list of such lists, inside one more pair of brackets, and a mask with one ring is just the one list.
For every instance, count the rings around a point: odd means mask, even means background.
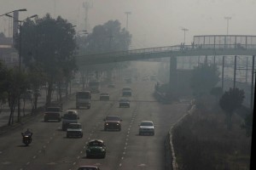
[{"label": "grey asphalt multi-lane highway running beneath the footbridge", "polygon": [[[43,114],[33,122],[0,136],[0,169],[7,170],[63,170],[77,169],[80,165],[96,165],[102,170],[166,169],[165,139],[170,127],[186,113],[188,103],[162,105],[154,101],[154,83],[138,81],[129,84],[132,88],[130,108],[119,108],[121,88],[102,88],[110,94],[109,101],[99,101],[99,94],[92,94],[90,110],[80,109],[79,122],[83,125],[82,139],[67,139],[61,130],[61,122],[44,122]],[[64,109],[75,107],[72,99]],[[122,130],[105,132],[103,119],[107,115],[122,118]],[[139,136],[138,124],[143,120],[153,121],[154,136]],[[21,143],[21,132],[29,127],[33,132],[32,144]],[[102,139],[107,145],[105,158],[86,158],[86,142]]]}]

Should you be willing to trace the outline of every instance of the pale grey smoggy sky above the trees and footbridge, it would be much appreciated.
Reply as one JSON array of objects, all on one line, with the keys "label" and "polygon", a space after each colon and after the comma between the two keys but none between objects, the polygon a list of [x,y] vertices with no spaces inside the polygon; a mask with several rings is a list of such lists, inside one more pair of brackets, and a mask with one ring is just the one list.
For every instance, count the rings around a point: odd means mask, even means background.
[{"label": "pale grey smoggy sky above the trees and footbridge", "polygon": [[[20,20],[33,14],[43,17],[50,13],[61,15],[84,30],[84,2],[90,2],[88,31],[108,20],[119,20],[132,34],[131,48],[150,48],[193,41],[193,36],[227,33],[225,16],[229,21],[229,34],[256,35],[256,0],[0,0],[0,14],[19,8]],[[55,5],[56,4],[56,5]],[[9,18],[0,17],[0,31],[9,35]]]}]

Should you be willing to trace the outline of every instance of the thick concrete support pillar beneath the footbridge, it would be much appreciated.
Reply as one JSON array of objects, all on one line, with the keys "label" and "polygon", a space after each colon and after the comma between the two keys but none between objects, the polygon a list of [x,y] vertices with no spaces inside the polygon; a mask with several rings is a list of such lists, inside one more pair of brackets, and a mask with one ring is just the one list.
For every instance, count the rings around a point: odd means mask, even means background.
[{"label": "thick concrete support pillar beneath the footbridge", "polygon": [[177,84],[177,57],[172,56],[170,58],[170,91],[174,92],[177,89]]}]

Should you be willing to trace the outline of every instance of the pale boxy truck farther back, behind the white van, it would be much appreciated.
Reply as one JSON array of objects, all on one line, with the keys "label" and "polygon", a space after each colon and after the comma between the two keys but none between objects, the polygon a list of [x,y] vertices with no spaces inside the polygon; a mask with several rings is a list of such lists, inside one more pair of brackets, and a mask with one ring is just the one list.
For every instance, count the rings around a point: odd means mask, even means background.
[{"label": "pale boxy truck farther back, behind the white van", "polygon": [[80,91],[76,93],[76,108],[86,107],[90,109],[90,99],[91,94],[90,91]]}]

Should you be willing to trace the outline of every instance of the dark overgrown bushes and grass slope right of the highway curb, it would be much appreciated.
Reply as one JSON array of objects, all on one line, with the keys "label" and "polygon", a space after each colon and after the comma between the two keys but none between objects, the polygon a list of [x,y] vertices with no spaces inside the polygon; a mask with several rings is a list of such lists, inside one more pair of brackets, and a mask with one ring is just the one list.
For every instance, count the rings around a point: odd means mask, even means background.
[{"label": "dark overgrown bushes and grass slope right of the highway curb", "polygon": [[230,131],[224,113],[218,108],[196,109],[186,116],[172,132],[179,169],[250,169],[251,138],[241,129],[242,121],[235,114]]}]

